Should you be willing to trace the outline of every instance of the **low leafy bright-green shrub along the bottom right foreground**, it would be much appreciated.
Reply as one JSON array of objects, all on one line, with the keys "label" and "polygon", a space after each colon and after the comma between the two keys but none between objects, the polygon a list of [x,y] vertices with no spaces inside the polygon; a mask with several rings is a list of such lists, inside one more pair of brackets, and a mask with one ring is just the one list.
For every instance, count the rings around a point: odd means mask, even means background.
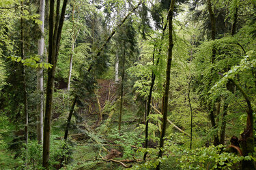
[{"label": "low leafy bright-green shrub along the bottom right foreground", "polygon": [[189,150],[178,145],[169,146],[168,140],[164,150],[162,158],[149,160],[142,165],[134,166],[133,169],[150,169],[159,163],[161,169],[234,169],[239,168],[240,161],[253,158],[225,152],[222,145]]}]

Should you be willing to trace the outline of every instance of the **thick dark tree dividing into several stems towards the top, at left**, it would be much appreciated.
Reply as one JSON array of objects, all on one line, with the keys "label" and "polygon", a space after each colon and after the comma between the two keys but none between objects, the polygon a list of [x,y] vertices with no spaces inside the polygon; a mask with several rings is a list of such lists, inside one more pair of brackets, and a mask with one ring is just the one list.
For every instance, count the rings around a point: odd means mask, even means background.
[{"label": "thick dark tree dividing into several stems towards the top, at left", "polygon": [[[61,39],[61,31],[65,18],[65,12],[68,0],[63,1],[61,15],[59,16],[60,0],[57,0],[55,9],[55,0],[50,1],[49,14],[49,37],[48,37],[48,63],[52,65],[48,69],[48,80],[46,87],[46,108],[44,116],[44,142],[43,142],[43,159],[42,165],[48,169],[48,161],[50,155],[50,133],[51,133],[51,113],[53,110],[53,89],[55,69],[57,65],[57,56],[59,53],[59,42]],[[56,14],[55,14],[56,11]],[[56,18],[56,19],[55,19]]]}]

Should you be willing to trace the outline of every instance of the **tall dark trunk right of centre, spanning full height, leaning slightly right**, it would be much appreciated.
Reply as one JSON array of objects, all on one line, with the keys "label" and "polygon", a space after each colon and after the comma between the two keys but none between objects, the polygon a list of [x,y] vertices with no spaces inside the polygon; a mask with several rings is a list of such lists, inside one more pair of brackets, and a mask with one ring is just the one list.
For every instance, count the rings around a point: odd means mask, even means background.
[{"label": "tall dark trunk right of centre, spanning full height, leaning slightly right", "polygon": [[[164,137],[167,126],[167,109],[168,109],[168,97],[169,97],[169,86],[170,86],[170,75],[171,75],[171,60],[173,55],[173,10],[174,10],[174,1],[171,0],[170,9],[168,12],[169,20],[169,47],[168,47],[168,58],[167,58],[167,69],[166,69],[166,84],[165,84],[165,94],[164,94],[164,103],[162,110],[162,127],[159,143],[159,152],[158,158],[162,157],[162,149],[164,146]],[[156,169],[160,169],[160,163],[157,165]]]}]

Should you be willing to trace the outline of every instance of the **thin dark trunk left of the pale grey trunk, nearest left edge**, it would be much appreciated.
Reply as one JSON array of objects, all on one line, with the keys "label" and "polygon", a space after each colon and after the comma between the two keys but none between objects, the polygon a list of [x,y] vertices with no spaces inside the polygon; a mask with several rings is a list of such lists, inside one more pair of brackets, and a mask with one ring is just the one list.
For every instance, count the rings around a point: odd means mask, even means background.
[{"label": "thin dark trunk left of the pale grey trunk, nearest left edge", "polygon": [[[25,51],[24,51],[24,5],[23,1],[21,1],[21,17],[20,17],[20,57],[25,60]],[[26,143],[26,160],[25,160],[25,166],[27,166],[27,141],[29,139],[29,132],[28,132],[28,126],[29,126],[29,113],[27,112],[27,84],[26,84],[26,73],[25,73],[25,66],[22,65],[22,75],[23,75],[23,104],[24,104],[24,115],[25,115],[25,143]]]}]

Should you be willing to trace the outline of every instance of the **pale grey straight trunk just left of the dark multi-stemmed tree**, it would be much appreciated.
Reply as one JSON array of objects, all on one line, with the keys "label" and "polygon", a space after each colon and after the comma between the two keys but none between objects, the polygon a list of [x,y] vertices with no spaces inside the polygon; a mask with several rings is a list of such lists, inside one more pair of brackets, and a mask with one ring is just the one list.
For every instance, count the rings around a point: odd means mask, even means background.
[{"label": "pale grey straight trunk just left of the dark multi-stemmed tree", "polygon": [[[38,40],[38,54],[40,55],[40,63],[43,61],[44,54],[44,0],[40,0],[40,25],[41,37]],[[38,143],[42,142],[43,137],[43,117],[44,117],[44,72],[42,68],[38,68],[38,92],[40,92],[40,103],[38,104],[38,122],[37,122],[37,139]]]}]

